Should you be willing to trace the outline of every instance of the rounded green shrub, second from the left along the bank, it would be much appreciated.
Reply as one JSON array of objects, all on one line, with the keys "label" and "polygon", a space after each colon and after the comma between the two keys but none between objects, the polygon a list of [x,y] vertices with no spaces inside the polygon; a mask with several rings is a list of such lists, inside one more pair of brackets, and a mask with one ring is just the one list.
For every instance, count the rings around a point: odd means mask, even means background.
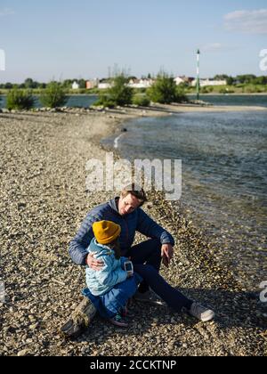
[{"label": "rounded green shrub, second from the left along the bank", "polygon": [[57,82],[51,82],[47,85],[44,93],[40,96],[40,102],[47,108],[64,106],[67,100],[66,91]]}]

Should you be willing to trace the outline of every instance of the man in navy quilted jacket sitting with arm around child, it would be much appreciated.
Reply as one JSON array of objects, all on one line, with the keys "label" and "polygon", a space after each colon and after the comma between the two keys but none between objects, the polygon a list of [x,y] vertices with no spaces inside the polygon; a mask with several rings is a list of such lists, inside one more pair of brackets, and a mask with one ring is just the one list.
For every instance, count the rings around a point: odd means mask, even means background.
[{"label": "man in navy quilted jacket sitting with arm around child", "polygon": [[[183,296],[159,274],[161,262],[168,267],[174,256],[174,238],[142,210],[141,207],[146,201],[146,194],[142,188],[136,185],[134,188],[134,184],[131,184],[125,187],[120,197],[93,208],[76,237],[70,242],[69,255],[75,264],[88,265],[96,271],[100,270],[103,265],[101,261],[96,260],[92,254],[88,255],[86,250],[93,239],[93,223],[106,220],[119,224],[121,254],[131,257],[134,272],[139,273],[143,279],[135,299],[156,305],[162,304],[164,300],[176,312],[180,313],[185,309],[200,321],[212,320],[213,311]],[[150,240],[132,247],[135,232],[141,232]],[[90,304],[89,300],[84,300],[82,308],[88,307],[88,303]],[[93,312],[95,313],[95,310]]]}]

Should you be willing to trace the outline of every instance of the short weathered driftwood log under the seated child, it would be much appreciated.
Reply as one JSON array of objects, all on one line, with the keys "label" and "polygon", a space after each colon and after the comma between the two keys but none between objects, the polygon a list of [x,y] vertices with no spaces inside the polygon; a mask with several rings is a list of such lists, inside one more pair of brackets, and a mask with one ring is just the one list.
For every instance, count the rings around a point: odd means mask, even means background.
[{"label": "short weathered driftwood log under the seated child", "polygon": [[61,329],[61,336],[66,339],[76,339],[89,326],[96,314],[96,309],[89,298],[84,297],[83,301],[71,313],[70,319]]}]

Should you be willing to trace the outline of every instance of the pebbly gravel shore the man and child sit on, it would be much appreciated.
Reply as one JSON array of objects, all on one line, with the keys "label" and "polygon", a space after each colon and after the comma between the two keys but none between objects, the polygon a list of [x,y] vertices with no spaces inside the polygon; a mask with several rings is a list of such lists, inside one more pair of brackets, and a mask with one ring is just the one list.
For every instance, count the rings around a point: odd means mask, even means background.
[{"label": "pebbly gravel shore the man and child sit on", "polygon": [[[208,238],[160,193],[150,194],[144,209],[176,240],[174,263],[162,273],[186,295],[212,306],[216,320],[205,324],[166,307],[136,304],[129,329],[96,317],[75,342],[58,333],[85,286],[84,269],[69,258],[69,240],[88,210],[114,196],[86,191],[86,161],[105,159],[100,140],[118,132],[125,119],[179,110],[190,108],[0,112],[0,280],[6,293],[0,304],[0,355],[267,353],[260,290],[243,289],[217,264]],[[141,240],[137,235],[136,243]]]}]

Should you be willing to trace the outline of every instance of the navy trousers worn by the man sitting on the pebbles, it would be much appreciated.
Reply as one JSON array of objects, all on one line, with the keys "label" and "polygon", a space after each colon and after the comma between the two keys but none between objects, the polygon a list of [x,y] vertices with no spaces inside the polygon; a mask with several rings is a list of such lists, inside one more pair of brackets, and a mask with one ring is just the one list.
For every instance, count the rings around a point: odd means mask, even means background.
[{"label": "navy trousers worn by the man sitting on the pebbles", "polygon": [[149,288],[152,289],[167,305],[180,313],[182,307],[190,309],[192,301],[170,286],[159,274],[162,260],[161,247],[162,244],[159,240],[151,239],[132,247],[123,256],[131,256],[134,272],[142,276],[143,282],[140,291],[145,292]]}]

